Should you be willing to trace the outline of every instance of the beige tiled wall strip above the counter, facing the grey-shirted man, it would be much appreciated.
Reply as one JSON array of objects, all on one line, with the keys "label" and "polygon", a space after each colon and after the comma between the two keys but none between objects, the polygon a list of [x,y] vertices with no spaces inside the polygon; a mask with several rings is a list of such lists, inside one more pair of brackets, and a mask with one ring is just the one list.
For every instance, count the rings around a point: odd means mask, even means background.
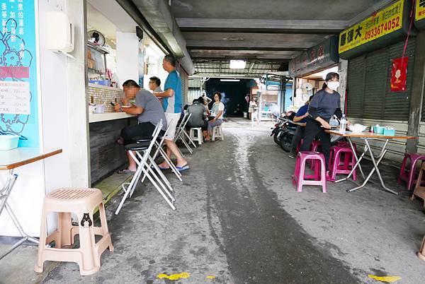
[{"label": "beige tiled wall strip above the counter, facing the grey-shirted man", "polygon": [[89,102],[105,105],[105,112],[114,112],[110,102],[120,102],[122,97],[124,97],[124,92],[121,89],[89,84]]}]

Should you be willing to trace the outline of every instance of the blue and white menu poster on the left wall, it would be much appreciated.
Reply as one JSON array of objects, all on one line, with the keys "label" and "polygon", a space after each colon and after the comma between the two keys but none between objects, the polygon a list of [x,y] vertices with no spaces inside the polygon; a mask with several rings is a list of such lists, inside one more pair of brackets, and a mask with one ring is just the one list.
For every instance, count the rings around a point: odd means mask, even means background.
[{"label": "blue and white menu poster on the left wall", "polygon": [[38,147],[38,80],[33,0],[0,1],[0,135]]}]

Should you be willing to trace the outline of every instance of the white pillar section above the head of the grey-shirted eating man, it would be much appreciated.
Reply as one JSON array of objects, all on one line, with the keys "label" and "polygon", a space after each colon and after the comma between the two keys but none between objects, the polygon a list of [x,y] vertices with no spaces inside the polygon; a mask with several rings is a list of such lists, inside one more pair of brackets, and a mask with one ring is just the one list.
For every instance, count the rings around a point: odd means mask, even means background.
[{"label": "white pillar section above the head of the grey-shirted eating man", "polygon": [[132,79],[139,81],[139,38],[135,32],[117,32],[117,73],[120,85]]}]

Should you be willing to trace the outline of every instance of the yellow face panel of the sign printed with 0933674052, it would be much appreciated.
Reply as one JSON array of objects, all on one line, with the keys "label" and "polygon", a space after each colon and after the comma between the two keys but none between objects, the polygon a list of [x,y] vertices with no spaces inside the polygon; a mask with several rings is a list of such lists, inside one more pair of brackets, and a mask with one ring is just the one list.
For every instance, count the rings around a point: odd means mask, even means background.
[{"label": "yellow face panel of the sign printed with 0933674052", "polygon": [[403,5],[404,0],[399,0],[341,32],[339,34],[339,53],[364,45],[366,42],[371,42],[402,28]]}]

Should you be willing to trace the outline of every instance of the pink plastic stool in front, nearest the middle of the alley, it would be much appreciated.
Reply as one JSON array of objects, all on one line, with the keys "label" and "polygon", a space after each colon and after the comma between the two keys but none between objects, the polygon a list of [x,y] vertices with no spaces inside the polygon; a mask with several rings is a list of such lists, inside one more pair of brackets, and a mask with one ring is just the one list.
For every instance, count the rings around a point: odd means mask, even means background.
[{"label": "pink plastic stool in front, nearest the middle of the alley", "polygon": [[[314,174],[305,174],[305,164],[307,160],[313,160]],[[326,167],[324,165],[324,155],[317,152],[300,152],[295,163],[293,174],[293,184],[297,185],[297,191],[302,191],[303,185],[320,185],[322,192],[326,193]]]}]

